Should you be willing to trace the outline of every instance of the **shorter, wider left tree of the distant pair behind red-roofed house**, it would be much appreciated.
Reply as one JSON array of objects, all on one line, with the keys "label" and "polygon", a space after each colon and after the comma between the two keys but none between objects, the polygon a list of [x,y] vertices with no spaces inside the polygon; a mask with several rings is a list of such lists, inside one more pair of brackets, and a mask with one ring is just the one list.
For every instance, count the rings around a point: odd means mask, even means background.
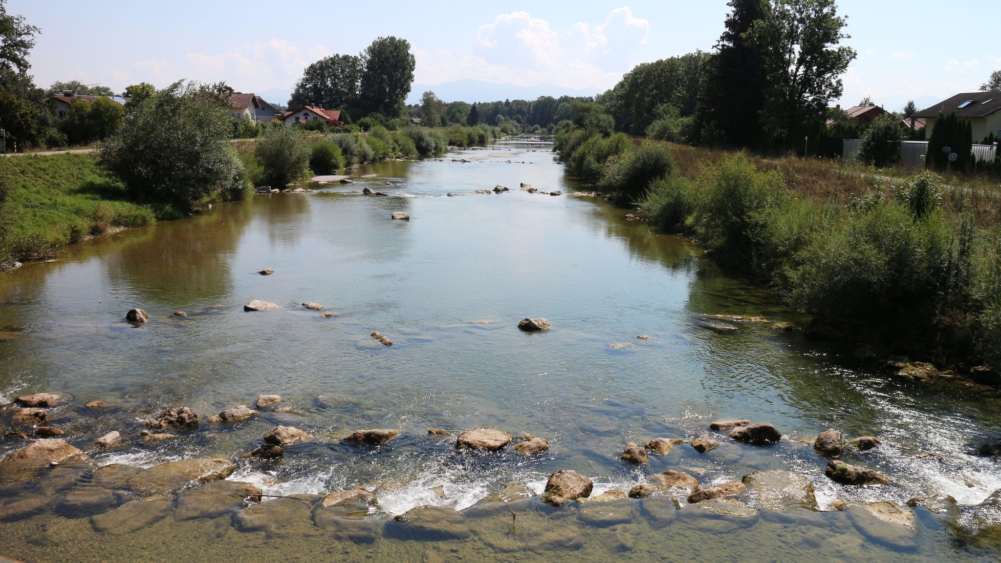
[{"label": "shorter, wider left tree of the distant pair behind red-roofed house", "polygon": [[307,66],[295,85],[290,107],[321,106],[351,113],[358,103],[361,59],[331,55]]}]

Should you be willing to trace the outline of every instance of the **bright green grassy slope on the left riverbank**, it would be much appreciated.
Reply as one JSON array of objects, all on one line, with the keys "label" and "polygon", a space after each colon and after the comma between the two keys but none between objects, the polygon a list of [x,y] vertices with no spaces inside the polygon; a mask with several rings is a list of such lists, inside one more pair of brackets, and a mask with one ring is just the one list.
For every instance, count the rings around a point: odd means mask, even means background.
[{"label": "bright green grassy slope on the left riverbank", "polygon": [[66,244],[117,227],[148,225],[172,210],[127,201],[121,183],[93,154],[0,159],[7,191],[0,241],[16,259],[49,258]]}]

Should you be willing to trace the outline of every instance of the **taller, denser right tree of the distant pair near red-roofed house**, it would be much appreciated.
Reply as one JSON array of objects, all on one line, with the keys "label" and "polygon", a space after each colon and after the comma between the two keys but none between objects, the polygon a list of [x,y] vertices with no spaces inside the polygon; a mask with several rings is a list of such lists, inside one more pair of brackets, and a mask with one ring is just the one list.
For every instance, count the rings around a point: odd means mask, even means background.
[{"label": "taller, denser right tree of the distant pair near red-roofed house", "polygon": [[361,62],[362,109],[388,117],[405,113],[403,100],[410,93],[416,64],[410,43],[397,37],[379,37],[361,53]]}]

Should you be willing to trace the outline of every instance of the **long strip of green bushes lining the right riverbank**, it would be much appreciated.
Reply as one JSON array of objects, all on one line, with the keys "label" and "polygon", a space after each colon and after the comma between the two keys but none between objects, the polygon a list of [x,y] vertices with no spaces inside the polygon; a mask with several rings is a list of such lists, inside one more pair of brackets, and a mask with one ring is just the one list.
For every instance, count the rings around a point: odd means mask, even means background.
[{"label": "long strip of green bushes lining the right riverbank", "polygon": [[815,199],[741,153],[683,176],[665,143],[572,140],[557,139],[568,166],[593,163],[610,200],[770,284],[812,317],[807,336],[855,345],[857,356],[887,360],[904,376],[949,376],[909,360],[917,358],[999,383],[989,366],[1001,365],[1001,230],[943,210],[935,174]]}]

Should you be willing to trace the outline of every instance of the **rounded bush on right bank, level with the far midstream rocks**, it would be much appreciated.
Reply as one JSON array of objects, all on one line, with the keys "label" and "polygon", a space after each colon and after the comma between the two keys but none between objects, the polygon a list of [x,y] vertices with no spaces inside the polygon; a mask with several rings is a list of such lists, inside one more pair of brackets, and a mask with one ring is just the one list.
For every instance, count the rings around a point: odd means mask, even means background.
[{"label": "rounded bush on right bank, level with the far midstream rocks", "polygon": [[676,171],[674,154],[667,146],[647,141],[638,148],[609,158],[599,187],[613,192],[619,201],[636,201],[654,180]]}]

